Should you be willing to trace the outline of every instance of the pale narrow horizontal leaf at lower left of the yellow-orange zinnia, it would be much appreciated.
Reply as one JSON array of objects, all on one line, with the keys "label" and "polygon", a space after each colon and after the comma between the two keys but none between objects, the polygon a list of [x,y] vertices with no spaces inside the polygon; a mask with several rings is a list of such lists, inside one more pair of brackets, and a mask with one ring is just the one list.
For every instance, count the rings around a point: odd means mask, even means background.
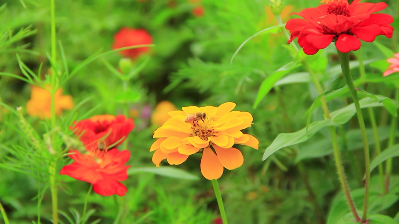
[{"label": "pale narrow horizontal leaf at lower left of the yellow-orange zinnia", "polygon": [[172,177],[176,179],[193,180],[193,181],[199,180],[199,178],[196,175],[192,175],[187,171],[174,167],[140,167],[140,168],[131,168],[128,169],[127,171],[128,175],[136,173],[154,173],[164,177]]}]

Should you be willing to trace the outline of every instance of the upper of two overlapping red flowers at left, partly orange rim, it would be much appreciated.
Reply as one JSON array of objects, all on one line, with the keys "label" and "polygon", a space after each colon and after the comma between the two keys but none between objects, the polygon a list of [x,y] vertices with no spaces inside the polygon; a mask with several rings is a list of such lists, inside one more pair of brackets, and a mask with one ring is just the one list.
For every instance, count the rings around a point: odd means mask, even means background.
[{"label": "upper of two overlapping red flowers at left, partly orange rim", "polygon": [[107,146],[120,145],[134,128],[132,118],[126,119],[124,115],[113,116],[109,114],[93,116],[89,119],[73,122],[69,127],[76,136],[79,136],[89,151],[97,147],[99,140],[105,141]]}]

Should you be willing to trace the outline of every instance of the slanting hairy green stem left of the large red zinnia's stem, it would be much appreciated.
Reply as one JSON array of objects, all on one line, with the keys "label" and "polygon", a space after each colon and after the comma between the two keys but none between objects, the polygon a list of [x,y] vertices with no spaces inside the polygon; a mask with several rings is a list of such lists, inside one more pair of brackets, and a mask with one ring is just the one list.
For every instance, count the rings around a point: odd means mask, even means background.
[{"label": "slanting hairy green stem left of the large red zinnia's stem", "polygon": [[[310,68],[309,64],[306,61],[302,61],[302,64],[304,65],[305,69],[309,72],[310,76],[312,77],[312,80],[313,80],[314,84],[316,85],[318,93],[321,94],[323,92],[323,89],[322,89],[322,86],[320,85],[319,81],[317,80],[316,74],[314,74],[312,68]],[[326,118],[331,119],[330,112],[328,111],[328,107],[327,107],[326,98],[324,98],[324,96],[322,96],[320,100],[322,102],[322,108],[324,111],[324,115],[326,116]],[[353,202],[352,196],[350,195],[349,186],[348,186],[348,183],[346,182],[346,178],[345,178],[344,167],[342,166],[341,153],[340,153],[340,149],[339,149],[339,145],[338,145],[337,133],[333,126],[330,126],[328,129],[330,130],[332,148],[334,151],[335,165],[336,165],[336,168],[338,171],[338,177],[341,182],[341,187],[342,187],[342,190],[344,191],[344,194],[345,194],[345,197],[348,202],[348,206],[349,206],[350,210],[352,211],[354,217],[356,218],[356,221],[359,222],[361,220],[361,218],[360,218],[358,212],[356,211],[355,204]]]}]

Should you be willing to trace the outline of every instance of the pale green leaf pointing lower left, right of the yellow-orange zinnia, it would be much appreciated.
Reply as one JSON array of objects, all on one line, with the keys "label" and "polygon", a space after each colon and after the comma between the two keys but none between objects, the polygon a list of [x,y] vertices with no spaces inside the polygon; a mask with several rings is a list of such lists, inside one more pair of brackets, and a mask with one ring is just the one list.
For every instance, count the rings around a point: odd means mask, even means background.
[{"label": "pale green leaf pointing lower left, right of the yellow-orange zinnia", "polygon": [[337,124],[330,119],[326,119],[310,124],[307,134],[306,128],[302,128],[301,130],[293,133],[281,133],[277,136],[273,143],[267,147],[265,153],[263,154],[262,160],[267,159],[270,155],[283,147],[304,142],[310,139],[316,132],[318,132],[318,130],[333,125]]}]

